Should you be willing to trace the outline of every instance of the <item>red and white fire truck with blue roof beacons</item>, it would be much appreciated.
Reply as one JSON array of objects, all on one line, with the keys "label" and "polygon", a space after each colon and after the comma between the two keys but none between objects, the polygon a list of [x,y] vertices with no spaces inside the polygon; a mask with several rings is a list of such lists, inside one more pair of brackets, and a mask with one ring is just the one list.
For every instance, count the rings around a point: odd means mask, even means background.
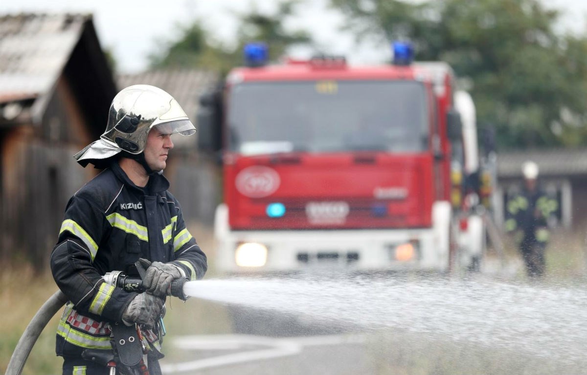
[{"label": "red and white fire truck with blue roof beacons", "polygon": [[266,45],[200,99],[200,151],[218,151],[220,271],[478,268],[475,107],[444,62],[270,65]]}]

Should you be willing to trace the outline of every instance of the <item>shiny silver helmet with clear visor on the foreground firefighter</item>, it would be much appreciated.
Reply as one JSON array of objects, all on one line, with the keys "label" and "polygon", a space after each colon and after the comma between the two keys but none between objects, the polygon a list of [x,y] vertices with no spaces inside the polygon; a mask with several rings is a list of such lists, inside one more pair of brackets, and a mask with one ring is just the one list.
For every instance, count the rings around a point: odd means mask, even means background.
[{"label": "shiny silver helmet with clear visor on the foreground firefighter", "polygon": [[[173,96],[150,85],[122,89],[110,104],[106,131],[100,139],[75,154],[82,165],[126,151],[138,155],[147,144],[147,134],[157,127],[163,134],[190,136],[195,127]],[[96,163],[93,163],[96,164]]]}]

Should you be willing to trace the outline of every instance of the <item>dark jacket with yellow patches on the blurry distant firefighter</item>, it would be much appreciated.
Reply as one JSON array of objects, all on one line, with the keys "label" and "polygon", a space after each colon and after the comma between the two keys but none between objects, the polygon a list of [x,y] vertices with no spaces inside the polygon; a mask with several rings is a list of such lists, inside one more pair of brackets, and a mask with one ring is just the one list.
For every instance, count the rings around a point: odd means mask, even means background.
[{"label": "dark jacket with yellow patches on the blurry distant firefighter", "polygon": [[523,190],[507,201],[505,229],[521,231],[522,241],[548,241],[548,219],[558,210],[558,202],[544,191]]}]

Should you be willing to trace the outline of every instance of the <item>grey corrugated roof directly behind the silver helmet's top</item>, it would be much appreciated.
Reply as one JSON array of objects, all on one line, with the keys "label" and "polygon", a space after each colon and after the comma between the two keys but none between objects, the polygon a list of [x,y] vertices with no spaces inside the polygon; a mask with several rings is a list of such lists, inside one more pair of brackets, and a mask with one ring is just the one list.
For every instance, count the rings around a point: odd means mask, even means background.
[{"label": "grey corrugated roof directly behind the silver helmet's top", "polygon": [[173,96],[192,121],[200,104],[200,95],[217,81],[214,73],[202,70],[151,70],[117,77],[119,89],[130,85],[153,85]]}]

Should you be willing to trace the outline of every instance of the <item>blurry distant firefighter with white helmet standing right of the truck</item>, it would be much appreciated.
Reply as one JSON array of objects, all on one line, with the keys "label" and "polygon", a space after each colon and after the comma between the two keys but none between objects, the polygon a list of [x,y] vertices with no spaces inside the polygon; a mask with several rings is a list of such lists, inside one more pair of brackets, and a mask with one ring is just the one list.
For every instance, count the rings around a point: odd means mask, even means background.
[{"label": "blurry distant firefighter with white helmet standing right of the truck", "polygon": [[519,251],[529,278],[541,278],[545,272],[544,253],[549,239],[548,221],[558,210],[558,202],[538,187],[538,165],[522,165],[524,189],[507,202],[505,229],[517,232]]}]

